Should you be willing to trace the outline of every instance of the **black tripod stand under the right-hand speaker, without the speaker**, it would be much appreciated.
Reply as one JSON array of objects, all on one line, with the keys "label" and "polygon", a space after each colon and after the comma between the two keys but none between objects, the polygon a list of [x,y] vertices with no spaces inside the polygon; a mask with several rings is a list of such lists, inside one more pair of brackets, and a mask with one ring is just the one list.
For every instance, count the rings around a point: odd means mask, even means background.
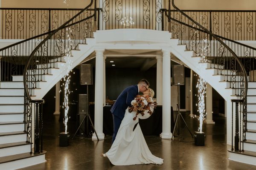
[{"label": "black tripod stand under the right-hand speaker, without the speaker", "polygon": [[[177,98],[178,98],[177,110],[178,110],[178,113],[177,113],[177,116],[176,116],[176,119],[175,119],[175,124],[174,124],[174,127],[173,127],[173,131],[172,131],[172,140],[174,138],[175,130],[176,130],[177,134],[180,135],[180,117],[182,118],[183,122],[185,123],[186,128],[189,130],[188,125],[186,124],[183,116],[180,113],[180,85],[177,85],[177,86],[178,86],[178,88],[177,88],[177,93],[178,93],[178,96],[177,96]],[[189,130],[189,133],[193,138],[193,134],[191,133],[190,130]]]}]

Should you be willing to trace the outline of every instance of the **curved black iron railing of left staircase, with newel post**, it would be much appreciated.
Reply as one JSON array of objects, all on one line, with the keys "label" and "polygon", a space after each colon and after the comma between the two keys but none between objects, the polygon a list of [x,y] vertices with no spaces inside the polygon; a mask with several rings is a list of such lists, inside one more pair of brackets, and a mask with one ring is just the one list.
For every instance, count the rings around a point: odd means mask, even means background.
[{"label": "curved black iron railing of left staircase, with newel post", "polygon": [[[31,96],[38,86],[37,83],[41,81],[42,75],[48,74],[50,68],[55,68],[55,62],[61,61],[68,50],[75,49],[79,44],[85,44],[87,37],[92,37],[94,20],[96,18],[96,8],[92,10],[92,4],[93,0],[90,1],[89,6],[71,17],[62,26],[50,34],[45,35],[45,37],[41,37],[41,41],[38,42],[38,45],[29,54],[24,67],[24,113],[26,118],[31,120],[29,117],[31,110],[28,110],[27,107],[33,105],[35,108],[35,153],[41,152],[42,150],[42,109],[40,108],[44,101],[41,99],[34,100]],[[31,122],[27,122],[26,124],[27,127],[31,127]]]}]

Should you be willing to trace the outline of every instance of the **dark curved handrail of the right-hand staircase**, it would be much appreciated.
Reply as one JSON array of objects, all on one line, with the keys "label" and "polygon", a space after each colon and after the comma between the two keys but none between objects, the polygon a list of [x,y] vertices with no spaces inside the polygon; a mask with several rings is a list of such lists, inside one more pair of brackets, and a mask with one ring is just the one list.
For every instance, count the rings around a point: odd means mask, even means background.
[{"label": "dark curved handrail of the right-hand staircase", "polygon": [[[219,39],[217,36],[215,36],[215,34],[212,34],[207,28],[204,28],[204,26],[201,26],[201,24],[197,23],[195,20],[193,20],[191,17],[189,17],[187,14],[185,14],[183,11],[181,11],[179,8],[177,8],[177,6],[175,6],[174,0],[172,0],[172,6],[177,9],[177,11],[179,11],[182,15],[184,15],[185,17],[187,17],[189,20],[191,20],[193,23],[195,23],[197,26],[199,26],[200,28],[202,28],[207,34],[211,35],[212,37],[214,37],[218,42],[221,43],[221,45],[223,45],[225,48],[227,48],[228,51],[230,51],[230,53],[233,55],[233,57],[236,59],[236,61],[238,62],[238,64],[241,67],[241,70],[244,74],[244,95],[243,95],[243,99],[245,100],[247,98],[247,89],[248,89],[248,80],[247,80],[247,73],[245,71],[244,65],[241,63],[240,59],[238,58],[238,56],[234,53],[234,51],[227,46],[221,39]],[[200,30],[200,29],[199,29]]]}]

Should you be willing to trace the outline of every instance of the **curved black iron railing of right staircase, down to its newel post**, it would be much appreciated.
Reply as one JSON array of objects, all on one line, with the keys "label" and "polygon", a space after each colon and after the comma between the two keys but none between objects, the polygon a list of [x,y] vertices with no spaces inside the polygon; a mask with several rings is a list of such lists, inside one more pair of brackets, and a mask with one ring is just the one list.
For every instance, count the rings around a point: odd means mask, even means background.
[{"label": "curved black iron railing of right staircase, down to its newel post", "polygon": [[[209,62],[210,68],[215,68],[217,70],[217,74],[223,76],[223,81],[230,83],[230,88],[234,89],[234,96],[239,97],[239,99],[236,99],[236,102],[240,104],[240,110],[237,109],[236,111],[241,111],[243,118],[246,118],[248,88],[247,71],[244,68],[244,64],[241,62],[241,59],[239,59],[238,55],[229,47],[232,40],[229,41],[228,39],[222,39],[220,36],[212,34],[211,31],[196,22],[194,20],[195,18],[192,19],[177,8],[174,0],[172,0],[172,6],[175,10],[171,12],[171,9],[169,8],[169,15],[166,11],[166,16],[169,20],[169,31],[172,32],[172,38],[179,39],[180,44],[186,45],[188,50],[195,51],[197,56],[201,56],[202,62]],[[186,18],[183,19],[184,22],[180,21],[181,17]],[[241,44],[240,47],[242,47]],[[241,50],[237,51],[237,53],[239,52],[241,52]],[[236,138],[239,136],[238,121],[239,119],[236,119]],[[243,120],[243,125],[240,125],[240,136],[242,135],[240,139],[242,139],[242,142],[246,139],[246,125],[244,122],[246,122],[246,120]],[[241,127],[243,128],[242,130]],[[235,148],[237,148],[239,142],[240,141],[236,139]],[[243,144],[241,145],[240,143],[239,146],[239,150],[243,150]]]}]

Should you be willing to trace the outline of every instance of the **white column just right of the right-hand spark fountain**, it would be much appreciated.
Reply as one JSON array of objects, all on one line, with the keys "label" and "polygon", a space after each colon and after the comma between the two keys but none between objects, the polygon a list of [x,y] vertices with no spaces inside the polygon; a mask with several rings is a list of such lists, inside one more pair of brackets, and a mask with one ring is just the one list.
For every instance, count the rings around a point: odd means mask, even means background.
[{"label": "white column just right of the right-hand spark fountain", "polygon": [[206,119],[204,122],[206,124],[215,124],[212,120],[212,86],[207,83],[206,88]]}]

